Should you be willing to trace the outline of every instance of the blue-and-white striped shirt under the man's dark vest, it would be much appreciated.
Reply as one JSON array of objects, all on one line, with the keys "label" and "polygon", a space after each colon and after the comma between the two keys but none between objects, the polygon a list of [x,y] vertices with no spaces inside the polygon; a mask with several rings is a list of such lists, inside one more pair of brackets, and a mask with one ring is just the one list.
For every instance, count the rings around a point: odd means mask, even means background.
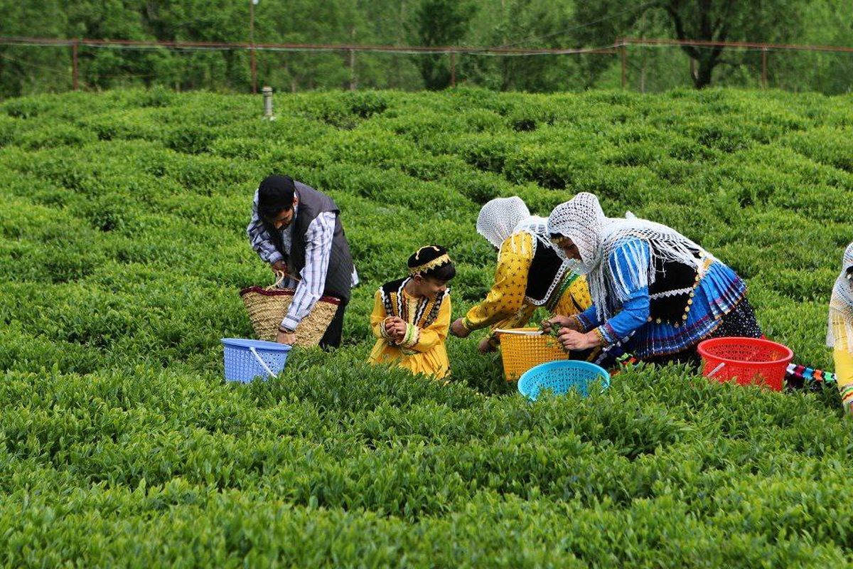
[{"label": "blue-and-white striped shirt under the man's dark vest", "polygon": [[[287,254],[290,254],[290,245],[293,242],[293,221],[299,215],[299,205],[293,206],[293,220],[285,228],[281,229],[281,241]],[[287,316],[281,321],[284,328],[295,330],[299,322],[308,316],[314,308],[316,301],[322,296],[326,285],[328,273],[328,261],[332,256],[332,239],[334,237],[334,223],[337,214],[335,212],[322,212],[314,221],[308,225],[305,231],[305,267],[299,273],[300,281],[288,278],[281,283],[283,287],[295,288],[293,301],[287,309]],[[258,192],[252,201],[252,221],[246,228],[249,243],[252,249],[258,253],[258,257],[265,263],[273,264],[283,260],[284,256],[276,249],[270,239],[270,234],[264,229],[264,224],[258,216]],[[352,267],[351,287],[358,284],[358,273],[355,266]]]}]

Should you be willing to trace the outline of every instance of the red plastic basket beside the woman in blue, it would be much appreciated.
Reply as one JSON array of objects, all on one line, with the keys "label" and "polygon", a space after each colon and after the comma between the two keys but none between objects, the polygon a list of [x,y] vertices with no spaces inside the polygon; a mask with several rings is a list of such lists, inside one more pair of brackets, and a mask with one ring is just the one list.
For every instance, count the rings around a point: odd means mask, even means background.
[{"label": "red plastic basket beside the woman in blue", "polygon": [[782,391],[782,382],[794,352],[786,345],[761,338],[711,338],[699,342],[702,374],[717,381],[737,379],[740,385],[757,383]]}]

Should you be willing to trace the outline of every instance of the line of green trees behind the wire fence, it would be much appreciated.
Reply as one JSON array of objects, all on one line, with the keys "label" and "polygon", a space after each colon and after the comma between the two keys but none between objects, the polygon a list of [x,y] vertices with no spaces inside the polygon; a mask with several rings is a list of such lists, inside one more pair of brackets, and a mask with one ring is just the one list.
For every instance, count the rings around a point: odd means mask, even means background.
[{"label": "line of green trees behind the wire fence", "polygon": [[[380,44],[594,48],[617,38],[853,46],[850,0],[0,0],[0,35],[258,44]],[[842,93],[853,54],[719,47],[631,47],[630,86],[711,84]],[[87,89],[164,85],[247,92],[246,50],[81,48]],[[764,58],[764,60],[763,60]],[[769,58],[769,62],[768,61]],[[258,80],[276,90],[440,90],[447,55],[256,52]],[[457,55],[457,82],[495,90],[614,87],[618,55]],[[0,45],[0,96],[68,90],[67,47]]]}]

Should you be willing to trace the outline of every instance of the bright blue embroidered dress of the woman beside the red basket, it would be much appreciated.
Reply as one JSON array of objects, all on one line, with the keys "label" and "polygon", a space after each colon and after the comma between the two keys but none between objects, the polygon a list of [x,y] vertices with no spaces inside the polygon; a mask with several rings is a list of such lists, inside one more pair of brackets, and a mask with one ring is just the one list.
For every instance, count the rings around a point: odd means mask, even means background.
[{"label": "bright blue embroidered dress of the woman beside the red basket", "polygon": [[[636,254],[638,250],[640,255]],[[614,293],[611,298],[627,300],[606,322],[600,321],[595,305],[579,314],[577,317],[584,330],[598,328],[608,345],[622,340],[624,348],[641,359],[674,354],[698,344],[712,334],[721,324],[722,317],[746,297],[746,283],[734,270],[704,251],[700,252],[699,258],[699,274],[690,292],[682,323],[653,319],[650,316],[652,298],[648,287],[639,287],[611,291]],[[652,263],[648,242],[636,237],[624,238],[605,262],[611,275],[646,272]],[[606,286],[612,289],[620,285],[611,279]]]}]

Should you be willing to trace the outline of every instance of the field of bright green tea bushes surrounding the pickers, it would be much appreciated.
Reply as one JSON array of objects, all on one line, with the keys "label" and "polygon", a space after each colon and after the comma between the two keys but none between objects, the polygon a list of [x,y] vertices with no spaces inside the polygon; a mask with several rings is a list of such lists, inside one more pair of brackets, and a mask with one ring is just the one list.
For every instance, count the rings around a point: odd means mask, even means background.
[{"label": "field of bright green tea bushes surrounding the pickers", "polygon": [[[263,5],[263,3],[261,3]],[[81,16],[82,17],[82,16]],[[850,96],[459,89],[164,90],[0,103],[0,550],[6,566],[844,566],[849,421],[640,367],[540,398],[479,334],[446,386],[370,367],[375,288],[450,248],[454,316],[490,287],[479,206],[575,192],[669,224],[746,276],[764,332],[823,345],[850,241]],[[273,171],[328,192],[363,286],[334,353],[222,380],[245,228]]]}]

